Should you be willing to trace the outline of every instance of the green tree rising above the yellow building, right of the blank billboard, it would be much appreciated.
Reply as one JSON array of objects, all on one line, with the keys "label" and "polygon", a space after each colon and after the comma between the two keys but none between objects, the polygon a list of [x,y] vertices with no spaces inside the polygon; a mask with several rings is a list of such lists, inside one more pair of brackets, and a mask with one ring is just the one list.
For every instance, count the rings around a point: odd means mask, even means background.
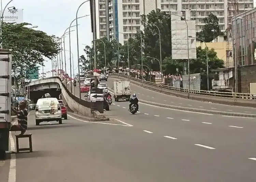
[{"label": "green tree rising above the yellow building, right of the blank billboard", "polygon": [[197,37],[203,39],[205,42],[211,42],[219,35],[223,35],[219,28],[218,18],[212,13],[203,19],[205,25],[203,29],[197,33]]}]

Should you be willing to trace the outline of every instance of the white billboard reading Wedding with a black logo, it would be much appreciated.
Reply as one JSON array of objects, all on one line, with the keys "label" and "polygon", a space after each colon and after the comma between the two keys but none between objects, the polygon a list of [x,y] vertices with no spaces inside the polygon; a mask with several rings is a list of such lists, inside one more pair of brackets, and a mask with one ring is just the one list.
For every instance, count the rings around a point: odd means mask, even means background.
[{"label": "white billboard reading Wedding with a black logo", "polygon": [[23,9],[6,8],[3,14],[3,21],[6,23],[23,23]]}]

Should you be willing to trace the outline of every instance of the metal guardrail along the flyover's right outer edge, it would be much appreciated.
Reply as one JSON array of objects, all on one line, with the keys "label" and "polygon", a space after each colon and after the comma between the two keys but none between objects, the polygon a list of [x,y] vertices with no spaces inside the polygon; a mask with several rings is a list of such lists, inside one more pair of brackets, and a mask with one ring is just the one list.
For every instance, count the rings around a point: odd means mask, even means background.
[{"label": "metal guardrail along the flyover's right outer edge", "polygon": [[[110,75],[129,78],[129,76],[127,76],[127,75],[118,74],[118,73],[111,73]],[[250,93],[217,92],[217,91],[207,91],[207,90],[186,89],[186,88],[179,88],[179,87],[172,87],[172,86],[167,86],[167,85],[156,84],[156,83],[153,83],[150,81],[145,81],[145,80],[143,80],[143,82],[142,82],[141,79],[134,78],[131,76],[130,76],[130,79],[137,81],[141,84],[152,85],[155,87],[165,88],[165,89],[169,89],[172,91],[178,91],[178,92],[188,93],[188,91],[189,91],[189,93],[198,94],[198,95],[209,95],[209,96],[227,97],[227,98],[240,98],[240,99],[249,99],[249,100],[256,99],[256,94],[250,94]]]}]

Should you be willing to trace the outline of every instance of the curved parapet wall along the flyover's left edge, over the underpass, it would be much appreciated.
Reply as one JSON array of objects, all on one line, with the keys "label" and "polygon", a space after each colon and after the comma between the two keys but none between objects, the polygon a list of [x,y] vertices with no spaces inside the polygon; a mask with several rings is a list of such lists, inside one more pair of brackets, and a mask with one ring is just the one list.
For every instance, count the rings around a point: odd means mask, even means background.
[{"label": "curved parapet wall along the flyover's left edge, over the underpass", "polygon": [[[68,93],[68,95],[69,95],[75,102],[77,102],[77,103],[79,103],[79,104],[81,104],[82,106],[85,106],[85,107],[87,107],[87,108],[94,108],[94,107],[95,107],[95,106],[94,106],[94,103],[89,102],[89,101],[85,101],[85,100],[83,100],[83,99],[80,100],[79,97],[75,96],[74,94],[71,94],[71,91],[70,91],[70,90],[71,90],[71,87],[68,88],[68,87],[69,87],[69,84],[66,84],[66,83],[65,83],[65,80],[66,80],[66,79],[61,79],[59,76],[45,77],[44,79],[51,79],[51,78],[58,79],[58,80],[60,81],[62,87],[65,89],[65,91]],[[42,80],[44,80],[44,79],[33,80],[33,81],[30,82],[30,85],[35,84],[36,81],[42,81]],[[70,84],[72,84],[72,83],[70,83]]]}]

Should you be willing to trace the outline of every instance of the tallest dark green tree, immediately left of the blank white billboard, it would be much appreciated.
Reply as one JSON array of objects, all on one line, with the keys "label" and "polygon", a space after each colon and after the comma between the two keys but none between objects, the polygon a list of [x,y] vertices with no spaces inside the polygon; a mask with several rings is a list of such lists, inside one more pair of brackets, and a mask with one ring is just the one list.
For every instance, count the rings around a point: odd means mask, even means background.
[{"label": "tallest dark green tree, immediately left of the blank white billboard", "polygon": [[[147,15],[141,15],[141,23],[144,26],[144,54],[146,56],[155,57],[160,60],[160,49],[159,49],[159,31],[161,34],[161,53],[162,60],[165,57],[171,57],[171,18],[166,12],[161,12],[160,9],[153,10]],[[155,25],[153,25],[155,24]],[[140,37],[137,36],[140,42]],[[158,62],[154,62],[153,68],[158,68]]]}]

